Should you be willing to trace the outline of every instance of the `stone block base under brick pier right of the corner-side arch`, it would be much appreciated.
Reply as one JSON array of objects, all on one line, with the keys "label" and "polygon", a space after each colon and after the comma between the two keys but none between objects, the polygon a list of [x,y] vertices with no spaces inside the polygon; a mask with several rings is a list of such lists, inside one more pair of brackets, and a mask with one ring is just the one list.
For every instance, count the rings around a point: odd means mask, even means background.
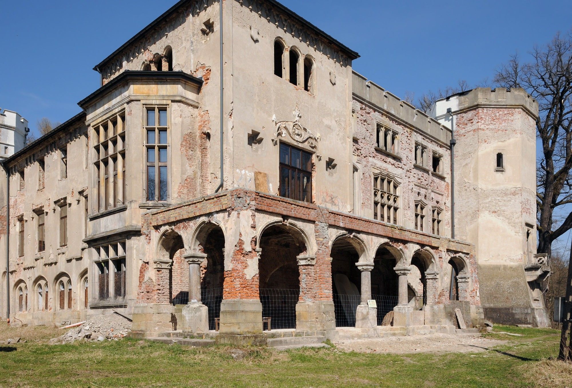
[{"label": "stone block base under brick pier right of the corner-side arch", "polygon": [[296,330],[336,330],[333,301],[298,302],[296,304]]}]

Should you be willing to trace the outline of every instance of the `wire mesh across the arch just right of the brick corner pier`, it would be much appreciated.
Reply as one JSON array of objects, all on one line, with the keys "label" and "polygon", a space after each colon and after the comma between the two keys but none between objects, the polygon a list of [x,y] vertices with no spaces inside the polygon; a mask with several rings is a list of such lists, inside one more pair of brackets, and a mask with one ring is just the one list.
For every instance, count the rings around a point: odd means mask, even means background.
[{"label": "wire mesh across the arch just right of the brick corner pier", "polygon": [[262,316],[271,318],[272,329],[296,329],[299,296],[300,290],[260,289]]}]

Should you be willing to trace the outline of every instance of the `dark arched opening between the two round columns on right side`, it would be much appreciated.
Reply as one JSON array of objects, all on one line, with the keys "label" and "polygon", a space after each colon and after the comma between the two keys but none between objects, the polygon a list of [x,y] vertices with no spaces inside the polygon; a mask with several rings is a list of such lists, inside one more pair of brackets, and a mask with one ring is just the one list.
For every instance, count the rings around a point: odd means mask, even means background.
[{"label": "dark arched opening between the two round columns on right side", "polygon": [[394,307],[398,305],[398,276],[394,267],[399,262],[398,250],[389,245],[378,248],[371,272],[371,297],[378,306],[378,325],[381,325]]}]

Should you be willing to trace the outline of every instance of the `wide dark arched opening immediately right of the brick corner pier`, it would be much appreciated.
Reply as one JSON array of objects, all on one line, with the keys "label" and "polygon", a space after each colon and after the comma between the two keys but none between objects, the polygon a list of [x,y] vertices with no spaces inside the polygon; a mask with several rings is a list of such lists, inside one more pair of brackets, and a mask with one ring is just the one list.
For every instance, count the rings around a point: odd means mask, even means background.
[{"label": "wide dark arched opening immediately right of the brick corner pier", "polygon": [[297,256],[307,250],[299,230],[272,225],[260,235],[260,302],[263,318],[271,318],[272,329],[296,327],[296,304],[300,298]]}]

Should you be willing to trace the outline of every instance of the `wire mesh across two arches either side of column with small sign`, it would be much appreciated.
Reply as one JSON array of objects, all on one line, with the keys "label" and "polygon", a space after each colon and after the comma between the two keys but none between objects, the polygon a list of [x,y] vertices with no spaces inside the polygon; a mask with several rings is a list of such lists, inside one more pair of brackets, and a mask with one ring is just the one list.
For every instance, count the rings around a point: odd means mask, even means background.
[{"label": "wire mesh across two arches either side of column with small sign", "polygon": [[[375,300],[378,306],[378,325],[381,325],[383,317],[397,306],[398,297],[372,295],[371,298]],[[361,300],[361,295],[333,294],[336,327],[355,327],[356,309],[358,309]]]}]

